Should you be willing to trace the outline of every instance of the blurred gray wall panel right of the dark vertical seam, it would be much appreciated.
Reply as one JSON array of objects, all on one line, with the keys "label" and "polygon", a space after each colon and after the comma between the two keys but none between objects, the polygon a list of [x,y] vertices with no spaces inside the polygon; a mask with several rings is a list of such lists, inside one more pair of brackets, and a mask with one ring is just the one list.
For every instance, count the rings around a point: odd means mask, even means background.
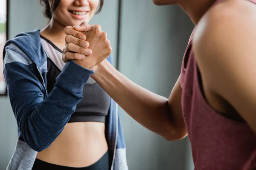
[{"label": "blurred gray wall panel right of the dark vertical seam", "polygon": [[[191,21],[178,6],[155,6],[151,0],[122,0],[121,17],[119,71],[168,98],[180,74]],[[167,142],[121,113],[131,170],[192,168],[187,139]]]}]

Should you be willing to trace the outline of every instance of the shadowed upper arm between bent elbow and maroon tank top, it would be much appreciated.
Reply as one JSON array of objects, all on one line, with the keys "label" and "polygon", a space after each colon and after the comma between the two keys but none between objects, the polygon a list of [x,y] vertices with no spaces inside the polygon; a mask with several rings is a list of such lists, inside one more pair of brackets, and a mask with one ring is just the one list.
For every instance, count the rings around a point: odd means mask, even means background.
[{"label": "shadowed upper arm between bent elbow and maroon tank top", "polygon": [[186,125],[183,119],[182,108],[181,108],[181,94],[182,88],[180,85],[180,76],[175,83],[172,92],[168,99],[168,106],[172,115],[172,121],[175,126],[175,130],[179,134],[179,138],[182,139],[187,136]]}]

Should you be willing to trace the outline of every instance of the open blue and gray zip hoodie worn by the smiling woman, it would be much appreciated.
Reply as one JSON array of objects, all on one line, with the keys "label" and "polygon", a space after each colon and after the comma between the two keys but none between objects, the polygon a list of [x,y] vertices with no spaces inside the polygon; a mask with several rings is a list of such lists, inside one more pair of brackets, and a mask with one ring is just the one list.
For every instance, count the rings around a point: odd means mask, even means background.
[{"label": "open blue and gray zip hoodie worn by the smiling woman", "polygon": [[[3,56],[6,86],[18,125],[17,145],[7,169],[31,170],[37,152],[49,147],[64,129],[94,71],[67,61],[47,94],[47,55],[38,29],[7,41]],[[111,62],[111,57],[108,60]],[[118,105],[113,99],[105,127],[111,170],[128,170]]]}]

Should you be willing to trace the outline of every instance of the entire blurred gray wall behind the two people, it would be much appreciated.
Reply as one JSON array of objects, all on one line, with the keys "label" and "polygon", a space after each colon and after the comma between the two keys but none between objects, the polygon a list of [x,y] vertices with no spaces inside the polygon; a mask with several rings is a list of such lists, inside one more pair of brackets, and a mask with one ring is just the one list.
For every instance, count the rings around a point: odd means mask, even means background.
[{"label": "entire blurred gray wall behind the two people", "polygon": [[[47,19],[39,0],[10,0],[9,37],[43,28]],[[177,6],[154,6],[151,0],[122,0],[119,71],[154,93],[169,97],[193,25]],[[118,0],[105,1],[91,24],[108,33],[116,66]],[[0,170],[12,156],[17,125],[7,97],[0,98]],[[192,170],[187,138],[167,142],[121,109],[129,170]]]}]

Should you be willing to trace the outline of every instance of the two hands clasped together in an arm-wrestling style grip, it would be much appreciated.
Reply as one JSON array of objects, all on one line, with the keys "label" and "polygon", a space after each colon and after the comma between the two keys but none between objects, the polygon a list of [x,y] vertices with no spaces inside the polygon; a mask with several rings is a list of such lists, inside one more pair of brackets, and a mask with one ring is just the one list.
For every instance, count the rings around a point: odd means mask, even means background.
[{"label": "two hands clasped together in an arm-wrestling style grip", "polygon": [[62,55],[64,62],[73,59],[82,67],[95,71],[112,52],[107,33],[98,24],[82,22],[79,26],[67,26],[64,31],[67,34]]}]

